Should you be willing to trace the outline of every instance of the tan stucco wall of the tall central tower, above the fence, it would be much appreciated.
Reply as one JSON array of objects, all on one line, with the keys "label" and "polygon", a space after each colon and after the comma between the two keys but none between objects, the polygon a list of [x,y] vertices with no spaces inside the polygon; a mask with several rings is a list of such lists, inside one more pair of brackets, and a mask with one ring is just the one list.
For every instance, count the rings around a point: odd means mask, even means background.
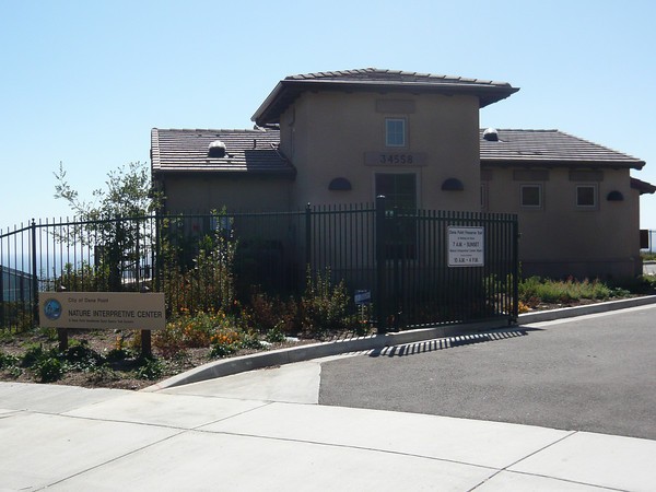
[{"label": "tan stucco wall of the tall central tower, above the fence", "polygon": [[[479,210],[478,115],[471,96],[304,93],[281,118],[281,150],[297,171],[292,203],[371,202],[376,173],[413,173],[419,208]],[[407,119],[406,148],[385,147],[386,117]],[[420,155],[423,165],[370,165],[367,152]],[[329,190],[336,177],[349,179],[352,189]],[[465,190],[443,191],[447,178],[462,181]]]}]

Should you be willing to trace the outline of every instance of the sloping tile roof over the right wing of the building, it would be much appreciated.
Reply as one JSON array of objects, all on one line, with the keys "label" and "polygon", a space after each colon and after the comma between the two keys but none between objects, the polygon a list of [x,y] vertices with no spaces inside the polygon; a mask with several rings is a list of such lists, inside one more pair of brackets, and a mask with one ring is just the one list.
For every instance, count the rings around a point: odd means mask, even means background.
[{"label": "sloping tile roof over the right wing of the building", "polygon": [[483,165],[572,165],[640,169],[644,161],[559,130],[496,130],[499,141],[483,139]]}]

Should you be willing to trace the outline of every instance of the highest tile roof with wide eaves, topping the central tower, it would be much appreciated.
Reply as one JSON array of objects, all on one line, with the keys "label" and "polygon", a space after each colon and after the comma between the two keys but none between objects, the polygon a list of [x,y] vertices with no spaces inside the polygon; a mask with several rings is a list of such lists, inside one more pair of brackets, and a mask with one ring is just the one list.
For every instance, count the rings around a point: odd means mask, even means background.
[{"label": "highest tile roof with wide eaves, topping the central tower", "polygon": [[319,89],[471,94],[479,97],[480,107],[496,103],[519,91],[507,82],[375,68],[305,73],[281,80],[251,119],[260,126],[277,124],[280,115],[298,95]]}]

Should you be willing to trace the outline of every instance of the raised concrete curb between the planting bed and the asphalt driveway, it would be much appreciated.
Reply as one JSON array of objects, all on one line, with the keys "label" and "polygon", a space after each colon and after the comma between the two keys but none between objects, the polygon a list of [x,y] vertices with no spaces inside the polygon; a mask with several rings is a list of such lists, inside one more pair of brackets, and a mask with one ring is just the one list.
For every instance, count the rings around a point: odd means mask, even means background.
[{"label": "raised concrete curb between the planting bed and the asphalt driveway", "polygon": [[[587,306],[565,307],[561,309],[527,313],[519,315],[518,325],[528,325],[531,323],[549,321],[553,319],[570,318],[595,313],[606,313],[609,311],[624,309],[628,307],[644,306],[648,304],[656,304],[656,295],[611,301]],[[325,343],[312,343],[307,345],[272,350],[269,352],[258,352],[251,355],[209,362],[187,371],[186,373],[178,374],[155,385],[143,388],[141,391],[159,391],[161,389],[172,388],[174,386],[188,385],[190,383],[198,383],[206,379],[230,376],[232,374],[244,373],[246,371],[253,371],[256,368],[271,367],[330,355],[383,349],[385,347],[414,343],[425,340],[433,340],[436,338],[455,337],[475,331],[485,331],[507,327],[507,321],[500,319],[487,323],[421,328],[394,333],[374,335],[370,337],[354,337]]]}]

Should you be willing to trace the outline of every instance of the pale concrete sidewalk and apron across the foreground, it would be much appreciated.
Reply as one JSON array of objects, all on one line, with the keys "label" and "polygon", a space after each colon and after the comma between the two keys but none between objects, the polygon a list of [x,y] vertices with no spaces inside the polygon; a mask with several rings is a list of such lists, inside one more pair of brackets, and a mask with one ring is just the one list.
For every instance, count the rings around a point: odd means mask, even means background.
[{"label": "pale concrete sidewalk and apron across the foreground", "polygon": [[321,362],[150,393],[0,383],[0,490],[654,490],[656,441],[324,407]]}]

